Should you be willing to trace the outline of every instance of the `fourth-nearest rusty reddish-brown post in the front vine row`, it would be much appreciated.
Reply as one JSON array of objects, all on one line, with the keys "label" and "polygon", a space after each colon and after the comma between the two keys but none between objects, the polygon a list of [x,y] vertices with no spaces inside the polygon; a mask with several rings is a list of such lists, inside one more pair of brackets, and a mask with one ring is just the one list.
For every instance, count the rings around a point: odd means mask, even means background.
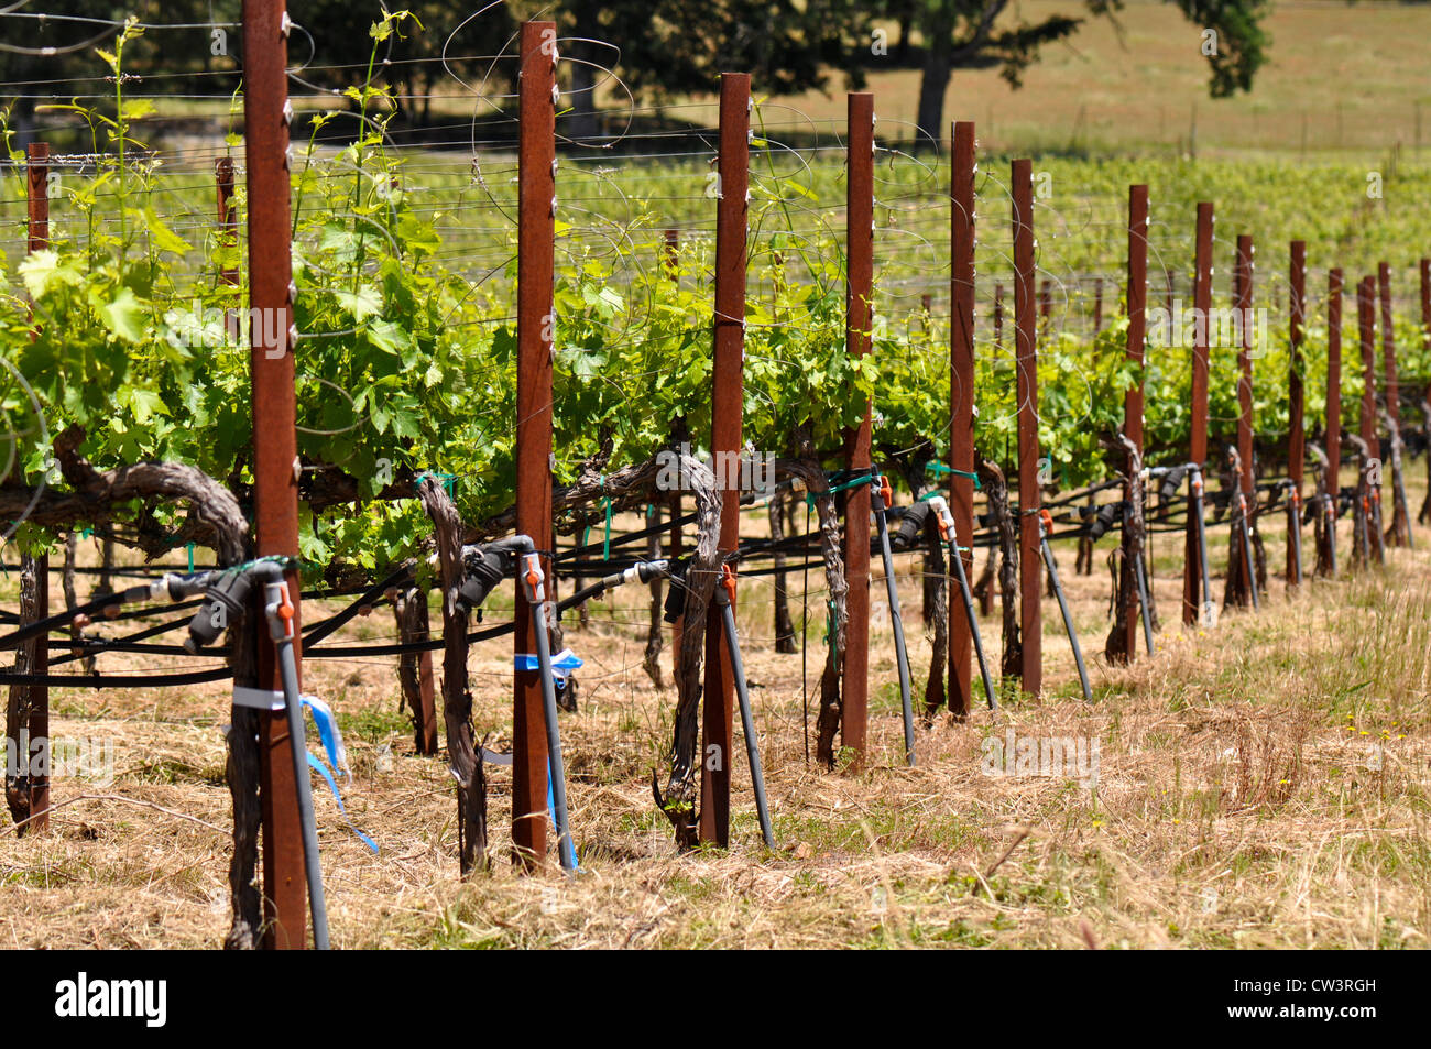
[{"label": "fourth-nearest rusty reddish-brown post in the front vine row", "polygon": [[[870,352],[874,283],[874,96],[849,96],[849,172],[846,177],[847,268],[844,342],[850,356]],[[870,468],[870,404],[860,425],[844,435],[844,465]],[[844,492],[844,571],[849,613],[844,645],[844,717],[841,740],[853,753],[851,769],[864,766],[870,691],[870,487]]]}]

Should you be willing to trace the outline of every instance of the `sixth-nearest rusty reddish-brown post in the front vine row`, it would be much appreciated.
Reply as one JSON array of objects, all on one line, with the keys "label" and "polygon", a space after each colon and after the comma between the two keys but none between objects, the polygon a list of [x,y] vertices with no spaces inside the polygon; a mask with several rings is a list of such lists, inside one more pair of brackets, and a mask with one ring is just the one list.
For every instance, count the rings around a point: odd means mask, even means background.
[{"label": "sixth-nearest rusty reddish-brown post in the front vine row", "polygon": [[1043,688],[1043,551],[1039,537],[1039,346],[1033,286],[1033,162],[1013,162],[1013,326],[1019,398],[1019,678]]}]

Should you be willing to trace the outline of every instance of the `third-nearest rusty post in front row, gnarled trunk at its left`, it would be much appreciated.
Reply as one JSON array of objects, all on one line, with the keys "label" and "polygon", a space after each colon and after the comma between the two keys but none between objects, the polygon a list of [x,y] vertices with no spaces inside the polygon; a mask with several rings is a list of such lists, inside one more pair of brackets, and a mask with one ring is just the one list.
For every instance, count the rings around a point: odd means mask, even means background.
[{"label": "third-nearest rusty post in front row, gnarled trunk at its left", "polygon": [[[750,182],[750,74],[720,76],[720,199],[716,218],[716,365],[711,455],[721,488],[721,554],[740,547],[740,445],[746,355],[746,192]],[[871,205],[873,208],[873,205]],[[734,595],[731,607],[734,610]],[[720,617],[705,625],[701,710],[701,841],[730,844],[730,747],[736,680]]]}]

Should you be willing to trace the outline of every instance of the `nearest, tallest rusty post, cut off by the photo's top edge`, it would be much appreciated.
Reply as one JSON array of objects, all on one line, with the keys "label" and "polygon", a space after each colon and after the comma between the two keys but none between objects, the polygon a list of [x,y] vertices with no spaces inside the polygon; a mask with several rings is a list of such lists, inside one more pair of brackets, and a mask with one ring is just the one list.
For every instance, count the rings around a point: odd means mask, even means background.
[{"label": "nearest, tallest rusty post, cut off by the photo's top edge", "polygon": [[[249,343],[253,382],[253,527],[259,557],[298,557],[298,431],[293,356],[293,266],[289,213],[288,19],[285,0],[243,3],[243,139],[249,200]],[[293,658],[302,671],[298,572]],[[262,617],[258,684],[280,691],[278,651]],[[269,947],[303,947],[308,886],[288,718],[259,716],[259,797],[263,810],[263,916]]]}]

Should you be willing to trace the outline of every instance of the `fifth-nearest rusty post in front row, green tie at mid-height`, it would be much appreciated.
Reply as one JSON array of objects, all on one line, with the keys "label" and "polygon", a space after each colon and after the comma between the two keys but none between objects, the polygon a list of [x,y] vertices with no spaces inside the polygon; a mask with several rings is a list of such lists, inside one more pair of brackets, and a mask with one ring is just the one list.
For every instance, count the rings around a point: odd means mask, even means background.
[{"label": "fifth-nearest rusty post in front row, green tie at mid-height", "polygon": [[[953,130],[953,172],[950,175],[952,225],[949,270],[949,507],[954,515],[956,545],[967,552],[964,578],[975,577],[975,125],[957,120]],[[950,594],[950,607],[956,595]],[[949,713],[960,721],[973,707],[973,635],[969,620],[949,617]],[[985,697],[987,701],[990,697]]]}]

